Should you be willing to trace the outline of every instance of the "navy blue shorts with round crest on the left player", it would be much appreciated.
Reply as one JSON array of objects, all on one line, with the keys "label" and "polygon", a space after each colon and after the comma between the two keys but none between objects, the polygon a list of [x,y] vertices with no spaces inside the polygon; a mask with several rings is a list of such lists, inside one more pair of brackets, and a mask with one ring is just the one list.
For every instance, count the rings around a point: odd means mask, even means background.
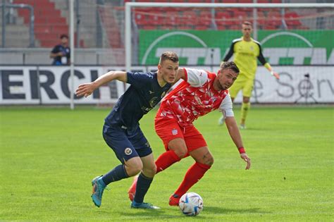
[{"label": "navy blue shorts with round crest on the left player", "polygon": [[133,130],[118,125],[104,125],[103,137],[106,144],[113,149],[117,158],[124,164],[132,157],[144,157],[152,153],[152,149],[140,127]]}]

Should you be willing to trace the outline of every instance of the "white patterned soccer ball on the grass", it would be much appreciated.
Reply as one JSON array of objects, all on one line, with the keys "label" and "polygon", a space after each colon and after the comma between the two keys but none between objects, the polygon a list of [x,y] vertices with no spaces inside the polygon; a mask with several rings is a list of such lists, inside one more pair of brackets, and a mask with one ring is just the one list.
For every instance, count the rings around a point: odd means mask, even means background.
[{"label": "white patterned soccer ball on the grass", "polygon": [[187,216],[197,216],[203,209],[203,199],[195,192],[187,192],[178,203],[180,210]]}]

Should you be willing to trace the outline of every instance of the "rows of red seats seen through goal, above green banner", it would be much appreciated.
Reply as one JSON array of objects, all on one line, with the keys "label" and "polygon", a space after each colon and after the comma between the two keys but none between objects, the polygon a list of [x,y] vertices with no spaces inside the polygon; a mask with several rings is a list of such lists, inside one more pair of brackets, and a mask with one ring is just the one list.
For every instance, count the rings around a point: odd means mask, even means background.
[{"label": "rows of red seats seen through goal, above green banner", "polygon": [[[146,0],[140,0],[138,2],[149,2]],[[150,1],[152,2],[152,1]],[[153,1],[154,2],[154,1]],[[156,0],[156,2],[161,2]],[[166,2],[203,2],[203,1],[166,1]],[[211,1],[207,1],[211,2]],[[252,0],[225,0],[225,1],[214,1],[216,3],[252,3]],[[280,0],[259,0],[259,3],[281,3]],[[135,21],[138,28],[144,30],[154,29],[178,29],[178,30],[206,30],[211,27],[211,13],[209,11],[201,11],[193,8],[192,11],[178,11],[175,8],[171,10],[159,11],[159,8],[138,8],[135,10]],[[282,16],[278,8],[266,10],[260,8],[258,10],[259,25],[264,30],[275,30],[282,25]],[[271,18],[268,21],[267,18]],[[289,12],[285,14],[287,19],[287,27],[293,29],[305,29],[302,23],[298,20],[299,16],[295,12]],[[252,9],[249,8],[233,8],[226,9],[221,8],[216,10],[214,20],[218,30],[239,30],[240,20],[252,20]]]}]

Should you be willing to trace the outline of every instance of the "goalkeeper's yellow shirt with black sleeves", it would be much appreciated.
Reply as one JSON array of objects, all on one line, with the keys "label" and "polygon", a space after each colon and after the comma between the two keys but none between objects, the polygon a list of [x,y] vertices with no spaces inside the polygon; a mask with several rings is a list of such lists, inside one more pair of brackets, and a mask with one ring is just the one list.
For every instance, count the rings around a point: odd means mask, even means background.
[{"label": "goalkeeper's yellow shirt with black sleeves", "polygon": [[228,61],[233,54],[233,60],[240,70],[240,75],[244,75],[245,78],[255,78],[257,68],[256,59],[259,59],[262,65],[266,64],[266,59],[262,54],[261,44],[252,38],[249,42],[244,41],[243,37],[234,39],[230,46],[230,51],[228,51],[223,61]]}]

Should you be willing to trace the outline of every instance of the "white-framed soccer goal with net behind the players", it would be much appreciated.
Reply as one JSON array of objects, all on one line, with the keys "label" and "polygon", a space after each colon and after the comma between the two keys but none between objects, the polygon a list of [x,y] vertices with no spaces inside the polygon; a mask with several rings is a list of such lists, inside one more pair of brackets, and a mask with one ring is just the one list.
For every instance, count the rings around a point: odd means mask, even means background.
[{"label": "white-framed soccer goal with net behind the players", "polygon": [[[126,2],[125,68],[149,70],[168,50],[179,55],[180,66],[216,71],[232,40],[242,36],[242,21],[248,20],[266,60],[282,75],[281,80],[271,79],[258,66],[255,88],[260,102],[292,103],[302,97],[333,103],[333,8],[334,4],[311,3]],[[301,82],[307,80],[312,84],[306,92]],[[269,94],[261,92],[266,85],[271,85]]]}]

